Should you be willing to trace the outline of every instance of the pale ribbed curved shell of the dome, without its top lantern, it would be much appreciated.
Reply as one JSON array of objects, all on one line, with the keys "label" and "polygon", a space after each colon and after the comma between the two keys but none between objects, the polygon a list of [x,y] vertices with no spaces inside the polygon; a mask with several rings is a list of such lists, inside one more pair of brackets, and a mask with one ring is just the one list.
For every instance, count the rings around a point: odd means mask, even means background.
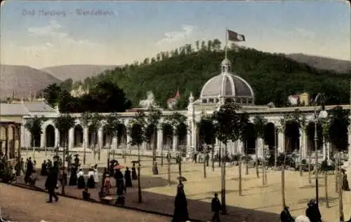
[{"label": "pale ribbed curved shell of the dome, without its top lantern", "polygon": [[201,98],[218,96],[254,97],[253,90],[249,83],[243,78],[230,73],[222,73],[208,80],[200,94]]}]

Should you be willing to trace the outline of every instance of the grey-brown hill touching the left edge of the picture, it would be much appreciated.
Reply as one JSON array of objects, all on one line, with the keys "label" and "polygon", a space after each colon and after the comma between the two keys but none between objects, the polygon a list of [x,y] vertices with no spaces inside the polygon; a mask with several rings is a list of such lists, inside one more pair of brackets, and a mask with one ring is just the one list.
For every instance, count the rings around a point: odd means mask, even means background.
[{"label": "grey-brown hill touching the left edge of the picture", "polygon": [[[0,97],[6,99],[13,95],[20,99],[29,98],[37,90],[46,88],[52,83],[60,83],[60,79],[51,74],[26,66],[1,64],[0,66]],[[31,91],[32,90],[32,91]]]}]

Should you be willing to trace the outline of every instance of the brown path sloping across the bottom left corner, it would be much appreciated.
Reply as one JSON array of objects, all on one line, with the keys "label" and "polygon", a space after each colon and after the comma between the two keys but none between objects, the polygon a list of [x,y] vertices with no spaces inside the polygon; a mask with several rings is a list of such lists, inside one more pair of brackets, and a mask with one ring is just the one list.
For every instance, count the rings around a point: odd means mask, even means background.
[{"label": "brown path sloping across the bottom left corner", "polygon": [[20,222],[168,222],[171,218],[139,211],[107,207],[81,200],[60,197],[46,203],[46,193],[0,184],[1,216]]}]

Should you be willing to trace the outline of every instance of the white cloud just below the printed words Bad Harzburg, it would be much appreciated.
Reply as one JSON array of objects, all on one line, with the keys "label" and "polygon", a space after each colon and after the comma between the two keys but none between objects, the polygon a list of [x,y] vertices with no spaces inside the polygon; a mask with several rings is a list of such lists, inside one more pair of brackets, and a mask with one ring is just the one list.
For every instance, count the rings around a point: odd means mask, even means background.
[{"label": "white cloud just below the printed words Bad Harzburg", "polygon": [[[54,46],[62,47],[74,47],[74,46],[98,46],[98,43],[88,41],[88,39],[73,39],[67,32],[65,27],[62,27],[55,20],[48,22],[48,25],[44,27],[29,27],[27,29],[29,36],[35,36],[39,39],[49,40],[43,44],[46,48],[53,48]],[[43,40],[44,41],[44,40]],[[32,48],[32,46],[30,46]],[[42,46],[37,46],[42,48]]]}]

